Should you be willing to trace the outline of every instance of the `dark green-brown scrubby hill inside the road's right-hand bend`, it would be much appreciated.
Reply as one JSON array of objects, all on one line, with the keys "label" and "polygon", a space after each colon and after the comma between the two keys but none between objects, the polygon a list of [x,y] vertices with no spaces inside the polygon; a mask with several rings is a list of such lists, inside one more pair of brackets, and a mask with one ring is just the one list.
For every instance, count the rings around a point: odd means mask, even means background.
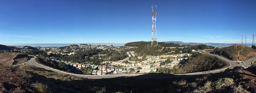
[{"label": "dark green-brown scrubby hill inside the road's right-hand bend", "polygon": [[209,71],[229,66],[227,62],[208,54],[199,54],[189,59],[185,64],[172,69],[173,73],[191,73]]}]

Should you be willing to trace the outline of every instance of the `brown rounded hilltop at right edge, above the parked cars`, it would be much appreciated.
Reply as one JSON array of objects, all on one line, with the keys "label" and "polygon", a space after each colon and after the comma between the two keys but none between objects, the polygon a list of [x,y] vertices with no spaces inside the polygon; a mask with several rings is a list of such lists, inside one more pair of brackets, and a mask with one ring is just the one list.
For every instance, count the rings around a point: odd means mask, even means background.
[{"label": "brown rounded hilltop at right edge, above the parked cars", "polygon": [[256,57],[256,50],[244,45],[228,46],[214,50],[214,54],[221,55],[229,60],[245,61]]}]

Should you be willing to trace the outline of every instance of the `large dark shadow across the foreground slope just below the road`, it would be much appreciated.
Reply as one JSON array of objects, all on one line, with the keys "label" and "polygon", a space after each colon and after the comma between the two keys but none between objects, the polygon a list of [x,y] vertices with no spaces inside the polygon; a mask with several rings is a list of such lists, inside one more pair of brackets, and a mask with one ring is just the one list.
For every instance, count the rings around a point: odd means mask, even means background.
[{"label": "large dark shadow across the foreground slope just below the road", "polygon": [[[239,68],[235,68],[239,69]],[[44,69],[40,69],[44,70]],[[45,70],[47,71],[47,70]],[[32,73],[32,72],[31,72]],[[87,79],[87,78],[75,78],[71,75],[63,75],[68,80],[61,78],[46,78],[43,75],[32,73],[33,81],[43,82],[47,84],[53,92],[70,93],[70,92],[89,92],[94,93],[95,90],[106,87],[108,93],[124,92],[124,93],[184,93],[186,89],[181,89],[181,86],[173,84],[174,81],[186,80],[186,83],[198,82],[204,86],[202,82],[218,80],[218,78],[232,78],[234,76],[234,69],[227,69],[224,72],[207,75],[171,75],[171,74],[146,74],[134,77],[117,77],[117,78],[105,78],[105,79]],[[56,73],[54,73],[56,74]],[[205,80],[197,80],[197,78],[203,78],[207,76]],[[62,76],[61,76],[62,77]],[[201,85],[202,83],[202,85]]]}]

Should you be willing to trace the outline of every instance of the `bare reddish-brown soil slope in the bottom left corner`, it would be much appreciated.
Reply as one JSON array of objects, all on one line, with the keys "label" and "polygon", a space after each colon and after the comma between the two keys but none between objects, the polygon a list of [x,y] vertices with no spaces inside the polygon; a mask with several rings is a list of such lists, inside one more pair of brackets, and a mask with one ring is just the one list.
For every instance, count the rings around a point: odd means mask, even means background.
[{"label": "bare reddish-brown soil slope in the bottom left corner", "polygon": [[0,67],[0,93],[35,92],[30,86],[31,79],[25,70],[14,67]]}]

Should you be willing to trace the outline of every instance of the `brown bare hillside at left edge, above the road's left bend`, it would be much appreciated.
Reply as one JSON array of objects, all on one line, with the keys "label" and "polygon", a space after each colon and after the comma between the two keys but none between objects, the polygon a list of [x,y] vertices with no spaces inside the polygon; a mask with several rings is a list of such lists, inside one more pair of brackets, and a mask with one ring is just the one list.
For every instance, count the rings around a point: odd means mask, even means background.
[{"label": "brown bare hillside at left edge, above the road's left bend", "polygon": [[23,53],[0,53],[0,66],[11,66],[27,62],[29,56]]}]

